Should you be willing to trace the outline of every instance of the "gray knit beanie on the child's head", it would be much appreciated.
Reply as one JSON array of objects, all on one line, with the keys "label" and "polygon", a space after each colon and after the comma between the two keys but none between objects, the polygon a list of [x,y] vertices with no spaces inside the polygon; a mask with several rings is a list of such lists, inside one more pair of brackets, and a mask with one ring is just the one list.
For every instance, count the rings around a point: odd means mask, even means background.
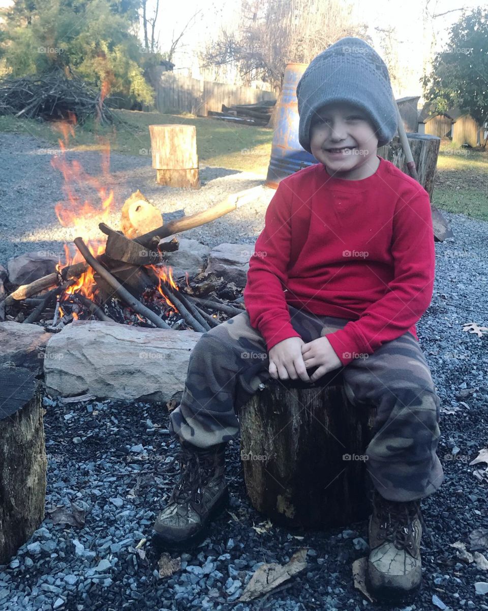
[{"label": "gray knit beanie on the child's head", "polygon": [[388,68],[368,43],[347,36],[312,59],[296,86],[300,124],[298,140],[310,151],[310,125],[325,104],[356,104],[375,126],[378,147],[388,144],[397,131]]}]

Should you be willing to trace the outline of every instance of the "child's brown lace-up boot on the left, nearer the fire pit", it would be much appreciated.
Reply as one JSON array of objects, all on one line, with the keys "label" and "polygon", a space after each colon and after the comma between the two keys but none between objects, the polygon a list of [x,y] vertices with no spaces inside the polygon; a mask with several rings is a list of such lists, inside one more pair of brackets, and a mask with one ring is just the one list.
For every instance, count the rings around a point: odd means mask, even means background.
[{"label": "child's brown lace-up boot on the left, nearer the fire pit", "polygon": [[181,441],[180,477],[153,527],[152,543],[160,551],[195,546],[226,506],[225,447],[225,442],[199,448]]}]

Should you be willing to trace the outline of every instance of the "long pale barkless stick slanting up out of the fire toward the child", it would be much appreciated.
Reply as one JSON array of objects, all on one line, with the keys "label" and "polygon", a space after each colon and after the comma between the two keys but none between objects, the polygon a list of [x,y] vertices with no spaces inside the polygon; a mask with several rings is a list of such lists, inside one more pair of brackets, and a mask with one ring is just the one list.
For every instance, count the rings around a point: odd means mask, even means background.
[{"label": "long pale barkless stick slanting up out of the fire toward the child", "polygon": [[262,191],[262,185],[229,195],[223,200],[223,202],[215,204],[215,206],[212,206],[208,210],[192,214],[191,216],[184,216],[181,219],[176,219],[176,221],[171,221],[167,225],[162,225],[162,227],[158,227],[158,229],[154,229],[149,233],[139,236],[138,238],[134,238],[134,242],[148,247],[152,238],[154,238],[156,235],[159,236],[159,238],[165,238],[172,233],[179,233],[186,231],[187,229],[193,229],[193,227],[199,227],[199,225],[204,225],[210,221],[214,221],[215,219],[224,216],[224,214],[228,214],[229,212],[232,212],[232,210],[236,210],[236,208],[239,208],[243,204],[256,199],[260,191]]}]

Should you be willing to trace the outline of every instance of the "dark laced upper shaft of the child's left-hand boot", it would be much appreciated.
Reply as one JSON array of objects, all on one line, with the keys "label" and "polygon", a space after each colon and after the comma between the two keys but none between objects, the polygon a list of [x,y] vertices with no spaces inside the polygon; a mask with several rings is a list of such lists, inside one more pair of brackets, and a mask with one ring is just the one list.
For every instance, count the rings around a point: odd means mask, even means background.
[{"label": "dark laced upper shaft of the child's left-hand boot", "polygon": [[193,496],[198,505],[203,499],[205,486],[215,472],[215,448],[180,448],[181,475],[174,491],[174,502],[184,505]]}]

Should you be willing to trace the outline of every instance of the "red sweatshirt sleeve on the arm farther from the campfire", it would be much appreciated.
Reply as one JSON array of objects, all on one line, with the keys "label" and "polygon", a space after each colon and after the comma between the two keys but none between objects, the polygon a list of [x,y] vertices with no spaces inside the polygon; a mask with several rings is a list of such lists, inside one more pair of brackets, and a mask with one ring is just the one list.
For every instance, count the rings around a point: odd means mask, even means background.
[{"label": "red sweatshirt sleeve on the arm farther from the campfire", "polygon": [[358,320],[327,335],[343,365],[359,354],[373,354],[383,343],[406,333],[429,307],[436,251],[425,189],[398,199],[391,252],[395,276],[387,284],[384,296],[367,307]]}]

